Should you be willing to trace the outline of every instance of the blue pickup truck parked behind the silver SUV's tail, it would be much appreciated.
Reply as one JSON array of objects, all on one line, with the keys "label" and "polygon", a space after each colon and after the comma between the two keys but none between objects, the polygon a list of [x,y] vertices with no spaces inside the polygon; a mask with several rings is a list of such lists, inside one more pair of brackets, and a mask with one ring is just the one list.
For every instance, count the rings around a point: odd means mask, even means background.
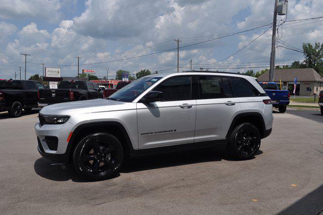
[{"label": "blue pickup truck parked behind the silver SUV's tail", "polygon": [[272,99],[273,107],[278,108],[279,112],[284,113],[289,105],[289,91],[279,90],[275,82],[259,82],[266,94]]}]

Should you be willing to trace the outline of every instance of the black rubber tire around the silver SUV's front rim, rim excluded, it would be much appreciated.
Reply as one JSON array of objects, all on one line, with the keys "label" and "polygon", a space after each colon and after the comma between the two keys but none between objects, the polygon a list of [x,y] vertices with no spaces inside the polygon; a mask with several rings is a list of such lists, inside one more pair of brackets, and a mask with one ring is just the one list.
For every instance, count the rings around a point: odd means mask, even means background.
[{"label": "black rubber tire around the silver SUV's front rim, rim excluded", "polygon": [[[100,139],[104,139],[106,141],[109,141],[118,150],[118,153],[120,156],[119,163],[117,164],[117,166],[115,167],[115,169],[113,171],[111,171],[110,173],[108,173],[106,175],[98,176],[98,175],[90,174],[88,171],[86,171],[84,169],[84,165],[81,162],[82,149],[85,148],[86,145],[89,144],[90,140],[93,138],[95,138],[95,139],[100,138]],[[123,163],[123,158],[124,158],[124,153],[123,153],[123,148],[122,148],[120,141],[116,137],[114,137],[113,135],[110,135],[107,133],[95,133],[95,134],[91,134],[91,135],[86,136],[77,144],[77,146],[74,150],[74,153],[73,153],[73,163],[74,163],[74,167],[75,167],[76,171],[80,175],[86,177],[87,179],[89,179],[91,181],[109,179],[109,178],[113,177],[114,175],[116,175],[119,172],[119,169]]]}]

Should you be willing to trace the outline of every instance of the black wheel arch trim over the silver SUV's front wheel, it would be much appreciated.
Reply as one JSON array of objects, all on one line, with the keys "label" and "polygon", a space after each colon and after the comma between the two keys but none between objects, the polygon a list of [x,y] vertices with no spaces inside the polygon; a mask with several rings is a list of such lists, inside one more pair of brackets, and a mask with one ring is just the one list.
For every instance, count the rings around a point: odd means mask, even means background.
[{"label": "black wheel arch trim over the silver SUV's front wheel", "polygon": [[134,148],[132,146],[132,142],[129,138],[129,135],[125,129],[125,127],[116,121],[103,121],[103,122],[89,122],[79,125],[73,131],[70,142],[68,143],[67,151],[68,160],[71,161],[71,157],[73,156],[73,151],[84,137],[89,134],[93,134],[94,132],[106,132],[113,136],[115,136],[121,143],[124,149],[125,155],[130,155],[134,153]]}]

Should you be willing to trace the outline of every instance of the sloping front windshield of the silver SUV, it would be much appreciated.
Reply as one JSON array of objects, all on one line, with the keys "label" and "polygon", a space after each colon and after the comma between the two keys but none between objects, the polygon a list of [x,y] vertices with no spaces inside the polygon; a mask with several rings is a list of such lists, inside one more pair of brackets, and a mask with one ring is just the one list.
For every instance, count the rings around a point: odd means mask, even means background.
[{"label": "sloping front windshield of the silver SUV", "polygon": [[162,77],[139,78],[111,95],[108,99],[120,102],[132,102],[160,78]]}]

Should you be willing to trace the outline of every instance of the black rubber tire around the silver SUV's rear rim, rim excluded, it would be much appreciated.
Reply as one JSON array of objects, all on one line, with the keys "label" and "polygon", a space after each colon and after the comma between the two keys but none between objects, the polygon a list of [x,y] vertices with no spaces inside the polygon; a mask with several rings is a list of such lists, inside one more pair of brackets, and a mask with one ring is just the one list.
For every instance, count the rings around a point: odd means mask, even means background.
[{"label": "black rubber tire around the silver SUV's rear rim, rim excluded", "polygon": [[[250,155],[242,155],[240,152],[238,152],[238,146],[236,143],[236,137],[238,135],[238,132],[241,131],[242,129],[245,128],[251,128],[254,133],[255,136],[257,137],[257,147],[254,150],[254,152]],[[261,136],[260,136],[260,132],[258,130],[258,128],[256,126],[254,126],[251,123],[242,123],[240,125],[238,125],[231,133],[230,138],[229,138],[229,143],[228,143],[228,149],[230,150],[230,152],[232,153],[232,155],[238,159],[250,159],[252,157],[254,157],[254,155],[258,152],[259,148],[260,148],[260,143],[261,143]]]}]

